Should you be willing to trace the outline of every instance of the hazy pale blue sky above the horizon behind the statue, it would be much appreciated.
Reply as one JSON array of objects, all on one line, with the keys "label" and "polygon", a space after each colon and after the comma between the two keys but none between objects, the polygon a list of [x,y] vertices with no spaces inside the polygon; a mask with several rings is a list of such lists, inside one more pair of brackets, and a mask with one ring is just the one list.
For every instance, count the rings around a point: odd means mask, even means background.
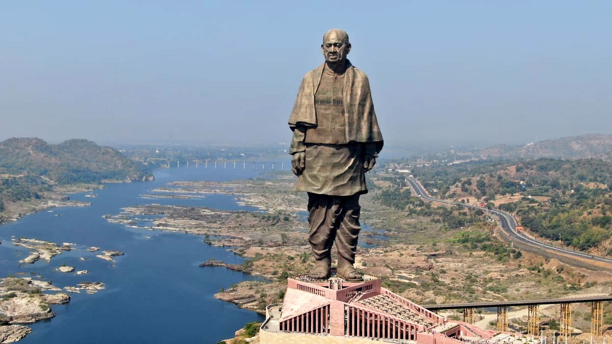
[{"label": "hazy pale blue sky above the horizon behind the statue", "polygon": [[612,133],[611,18],[603,0],[1,1],[0,140],[288,142],[330,28],[386,145]]}]

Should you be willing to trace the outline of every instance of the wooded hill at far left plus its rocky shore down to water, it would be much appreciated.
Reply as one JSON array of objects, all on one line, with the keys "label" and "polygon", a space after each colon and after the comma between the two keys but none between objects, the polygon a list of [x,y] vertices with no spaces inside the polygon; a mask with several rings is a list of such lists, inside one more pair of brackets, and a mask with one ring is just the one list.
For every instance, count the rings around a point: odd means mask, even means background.
[{"label": "wooded hill at far left plus its rocky shore down to water", "polygon": [[152,178],[140,163],[92,141],[48,144],[40,138],[10,138],[0,142],[0,223],[5,217],[31,212],[28,202],[52,197],[58,185]]}]

